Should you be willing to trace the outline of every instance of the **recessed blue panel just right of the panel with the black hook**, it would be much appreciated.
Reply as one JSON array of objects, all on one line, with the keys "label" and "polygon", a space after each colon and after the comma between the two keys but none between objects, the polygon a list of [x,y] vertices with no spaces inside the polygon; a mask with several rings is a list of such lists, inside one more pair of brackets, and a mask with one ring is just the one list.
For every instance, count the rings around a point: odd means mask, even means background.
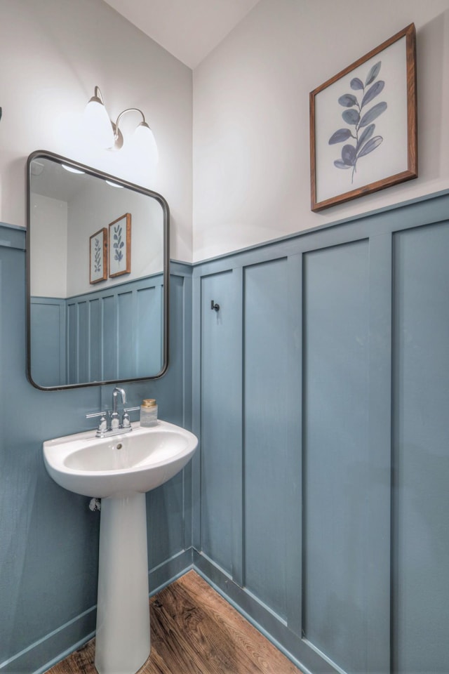
[{"label": "recessed blue panel just right of the panel with the black hook", "polygon": [[244,579],[285,619],[288,425],[299,404],[288,389],[286,259],[246,267],[244,282]]}]

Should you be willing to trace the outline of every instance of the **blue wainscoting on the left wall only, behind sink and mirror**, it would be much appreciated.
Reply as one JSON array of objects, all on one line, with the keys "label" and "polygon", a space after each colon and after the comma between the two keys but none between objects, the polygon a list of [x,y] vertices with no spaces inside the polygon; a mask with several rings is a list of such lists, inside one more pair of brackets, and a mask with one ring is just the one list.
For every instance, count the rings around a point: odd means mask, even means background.
[{"label": "blue wainscoting on the left wall only, behind sink and mirror", "polygon": [[[192,270],[173,264],[170,369],[125,383],[131,405],[192,428]],[[26,378],[25,232],[0,225],[0,672],[45,671],[95,631],[99,513],[46,473],[42,442],[92,428],[113,386],[41,391]],[[43,359],[52,353],[43,349]],[[133,420],[138,418],[133,416]],[[152,592],[192,565],[192,470],[147,497]]]}]

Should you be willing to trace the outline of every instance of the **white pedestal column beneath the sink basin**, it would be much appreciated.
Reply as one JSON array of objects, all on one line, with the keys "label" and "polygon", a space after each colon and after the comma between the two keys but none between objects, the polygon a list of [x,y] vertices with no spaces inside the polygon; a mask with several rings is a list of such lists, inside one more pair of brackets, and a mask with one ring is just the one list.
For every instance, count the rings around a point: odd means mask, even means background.
[{"label": "white pedestal column beneath the sink basin", "polygon": [[145,494],[102,498],[95,667],[135,674],[149,656]]}]

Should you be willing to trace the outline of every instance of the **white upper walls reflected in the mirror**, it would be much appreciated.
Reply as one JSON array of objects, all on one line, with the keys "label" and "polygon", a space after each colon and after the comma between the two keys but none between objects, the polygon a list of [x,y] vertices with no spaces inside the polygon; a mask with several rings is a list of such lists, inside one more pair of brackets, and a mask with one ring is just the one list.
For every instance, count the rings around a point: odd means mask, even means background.
[{"label": "white upper walls reflected in the mirror", "polygon": [[[119,190],[89,176],[69,202],[32,193],[31,209],[32,296],[73,297],[163,270],[163,211],[146,194]],[[102,227],[109,230],[109,224],[127,212],[131,271],[91,284],[90,237]],[[112,244],[109,239],[109,249]]]}]

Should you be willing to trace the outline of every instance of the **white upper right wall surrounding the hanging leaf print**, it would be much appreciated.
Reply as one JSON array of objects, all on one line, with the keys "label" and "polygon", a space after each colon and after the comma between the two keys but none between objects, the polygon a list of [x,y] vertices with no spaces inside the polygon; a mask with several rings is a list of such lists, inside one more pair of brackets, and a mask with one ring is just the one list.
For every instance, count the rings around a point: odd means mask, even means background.
[{"label": "white upper right wall surrounding the hanging leaf print", "polygon": [[[310,210],[309,92],[415,22],[419,178]],[[449,187],[449,0],[261,0],[194,70],[194,260]]]}]

